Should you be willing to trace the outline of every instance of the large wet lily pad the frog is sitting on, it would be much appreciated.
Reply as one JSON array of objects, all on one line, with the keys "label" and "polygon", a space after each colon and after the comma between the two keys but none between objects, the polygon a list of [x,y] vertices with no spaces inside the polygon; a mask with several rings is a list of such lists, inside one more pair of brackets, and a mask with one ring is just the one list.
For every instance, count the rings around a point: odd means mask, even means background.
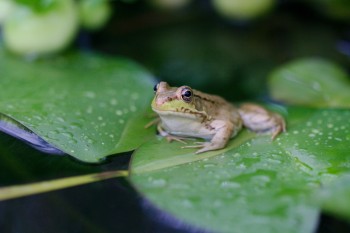
[{"label": "large wet lily pad the frog is sitting on", "polygon": [[287,108],[275,141],[246,131],[196,155],[157,139],[133,155],[131,181],[176,218],[215,232],[313,232],[310,197],[350,171],[350,110]]}]

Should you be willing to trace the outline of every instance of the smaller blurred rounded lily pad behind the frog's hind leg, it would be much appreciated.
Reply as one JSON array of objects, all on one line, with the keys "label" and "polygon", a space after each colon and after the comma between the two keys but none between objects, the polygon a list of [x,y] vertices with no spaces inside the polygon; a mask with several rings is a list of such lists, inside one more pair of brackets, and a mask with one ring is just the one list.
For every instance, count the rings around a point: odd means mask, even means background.
[{"label": "smaller blurred rounded lily pad behind the frog's hind leg", "polygon": [[275,100],[289,104],[350,107],[349,76],[324,59],[298,59],[277,68],[270,75],[269,87]]}]

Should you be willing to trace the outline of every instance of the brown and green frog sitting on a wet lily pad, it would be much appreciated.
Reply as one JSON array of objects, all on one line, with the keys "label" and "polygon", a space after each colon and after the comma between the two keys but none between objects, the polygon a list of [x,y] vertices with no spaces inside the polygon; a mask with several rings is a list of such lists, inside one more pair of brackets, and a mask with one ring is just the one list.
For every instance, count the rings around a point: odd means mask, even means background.
[{"label": "brown and green frog sitting on a wet lily pad", "polygon": [[269,133],[272,140],[286,131],[284,118],[255,103],[235,105],[224,98],[189,86],[171,87],[161,81],[154,86],[152,110],[158,116],[158,132],[168,141],[204,141],[182,148],[197,148],[196,154],[223,149],[244,127]]}]

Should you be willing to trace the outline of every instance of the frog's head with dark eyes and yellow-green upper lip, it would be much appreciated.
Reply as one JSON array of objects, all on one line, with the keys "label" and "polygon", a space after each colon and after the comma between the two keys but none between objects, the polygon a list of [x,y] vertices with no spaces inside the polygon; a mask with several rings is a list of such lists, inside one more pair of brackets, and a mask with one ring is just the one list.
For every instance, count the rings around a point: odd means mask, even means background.
[{"label": "frog's head with dark eyes and yellow-green upper lip", "polygon": [[156,112],[197,111],[193,90],[189,86],[170,87],[166,82],[154,86],[152,109]]}]

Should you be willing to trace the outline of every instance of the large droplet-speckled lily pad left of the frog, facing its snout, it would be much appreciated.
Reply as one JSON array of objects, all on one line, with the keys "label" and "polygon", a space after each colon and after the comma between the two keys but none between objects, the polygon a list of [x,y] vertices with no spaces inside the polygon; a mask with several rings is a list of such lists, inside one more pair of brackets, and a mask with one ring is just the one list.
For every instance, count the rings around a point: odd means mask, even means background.
[{"label": "large droplet-speckled lily pad left of the frog, facing its snout", "polygon": [[[79,160],[130,151],[145,130],[152,76],[123,58],[74,53],[24,62],[0,51],[0,113]],[[11,131],[11,130],[10,130]]]}]

